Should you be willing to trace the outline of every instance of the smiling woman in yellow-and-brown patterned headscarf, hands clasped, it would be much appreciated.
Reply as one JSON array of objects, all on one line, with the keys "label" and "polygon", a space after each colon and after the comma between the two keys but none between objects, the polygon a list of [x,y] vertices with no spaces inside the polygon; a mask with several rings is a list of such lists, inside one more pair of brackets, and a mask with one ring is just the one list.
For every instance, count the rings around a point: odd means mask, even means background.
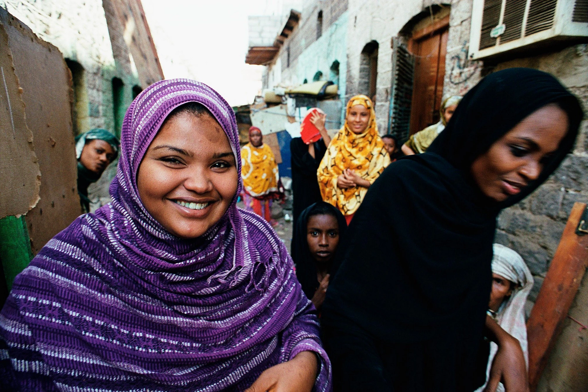
[{"label": "smiling woman in yellow-and-brown patterned headscarf, hands clasped", "polygon": [[316,172],[323,200],[337,207],[349,223],[370,185],[389,164],[372,101],[356,95],[347,103],[345,124]]}]

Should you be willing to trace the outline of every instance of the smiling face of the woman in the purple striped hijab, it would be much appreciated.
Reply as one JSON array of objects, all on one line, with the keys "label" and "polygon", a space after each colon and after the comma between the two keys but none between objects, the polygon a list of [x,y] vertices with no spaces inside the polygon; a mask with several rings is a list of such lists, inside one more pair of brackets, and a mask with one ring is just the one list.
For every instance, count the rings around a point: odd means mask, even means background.
[{"label": "smiling face of the woman in the purple striped hijab", "polygon": [[139,166],[147,211],[175,236],[201,236],[225,214],[237,192],[235,156],[209,115],[180,113],[165,122]]}]

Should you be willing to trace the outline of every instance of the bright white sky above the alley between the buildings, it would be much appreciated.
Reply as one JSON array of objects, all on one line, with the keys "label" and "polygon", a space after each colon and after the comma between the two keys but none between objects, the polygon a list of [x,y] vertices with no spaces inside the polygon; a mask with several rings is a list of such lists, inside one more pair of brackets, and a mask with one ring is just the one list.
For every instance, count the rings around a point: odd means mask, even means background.
[{"label": "bright white sky above the alley between the buildings", "polygon": [[248,16],[281,14],[288,0],[142,0],[163,75],[206,83],[230,105],[252,103],[262,66],[245,64]]}]

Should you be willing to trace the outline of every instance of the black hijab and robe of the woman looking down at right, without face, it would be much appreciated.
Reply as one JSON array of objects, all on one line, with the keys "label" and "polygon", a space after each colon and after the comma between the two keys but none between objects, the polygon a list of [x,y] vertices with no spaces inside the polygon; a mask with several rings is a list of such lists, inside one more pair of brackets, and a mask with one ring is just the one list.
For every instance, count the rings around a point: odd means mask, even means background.
[{"label": "black hijab and robe of the woman looking down at right, without face", "polygon": [[[473,182],[470,166],[549,103],[566,111],[567,135],[539,179],[519,195],[493,202]],[[496,216],[559,166],[581,119],[577,99],[547,73],[512,68],[486,76],[426,153],[390,164],[370,187],[335,261],[340,267],[323,304],[326,330],[361,331],[404,347],[424,344],[421,357],[413,358],[416,367],[428,364],[437,375],[430,376],[450,377],[439,381],[450,386],[443,390],[475,389],[472,366],[490,295]],[[326,343],[341,342],[326,333]]]}]

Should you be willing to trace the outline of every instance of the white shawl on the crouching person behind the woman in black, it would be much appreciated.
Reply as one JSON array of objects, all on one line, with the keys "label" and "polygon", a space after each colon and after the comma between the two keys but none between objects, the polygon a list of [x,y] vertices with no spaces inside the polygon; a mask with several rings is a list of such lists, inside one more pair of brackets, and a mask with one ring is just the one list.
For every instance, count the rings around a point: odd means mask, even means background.
[{"label": "white shawl on the crouching person behind the woman in black", "polygon": [[[501,245],[494,244],[494,256],[492,258],[492,272],[514,283],[512,294],[504,301],[497,313],[496,321],[511,336],[519,340],[520,348],[523,349],[524,361],[529,367],[529,349],[527,347],[527,326],[524,322],[524,303],[533,288],[533,275],[529,271],[519,253]],[[490,342],[490,356],[486,367],[486,383],[490,377],[490,367],[496,355],[498,346]],[[480,392],[486,387],[486,383],[475,392]],[[496,392],[503,392],[505,387],[498,384]]]}]

